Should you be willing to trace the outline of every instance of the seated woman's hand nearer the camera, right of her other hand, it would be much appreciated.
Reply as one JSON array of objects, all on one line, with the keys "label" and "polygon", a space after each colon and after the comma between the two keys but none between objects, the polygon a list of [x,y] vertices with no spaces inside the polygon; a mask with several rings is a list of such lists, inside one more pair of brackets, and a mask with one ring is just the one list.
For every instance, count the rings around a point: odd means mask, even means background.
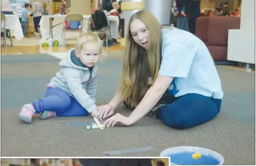
[{"label": "seated woman's hand nearer the camera, right of her other hand", "polygon": [[117,124],[123,125],[123,126],[130,126],[132,123],[131,118],[128,118],[126,116],[121,115],[120,113],[117,113],[116,115],[112,116],[111,118],[107,119],[104,124],[106,127],[114,127]]}]

